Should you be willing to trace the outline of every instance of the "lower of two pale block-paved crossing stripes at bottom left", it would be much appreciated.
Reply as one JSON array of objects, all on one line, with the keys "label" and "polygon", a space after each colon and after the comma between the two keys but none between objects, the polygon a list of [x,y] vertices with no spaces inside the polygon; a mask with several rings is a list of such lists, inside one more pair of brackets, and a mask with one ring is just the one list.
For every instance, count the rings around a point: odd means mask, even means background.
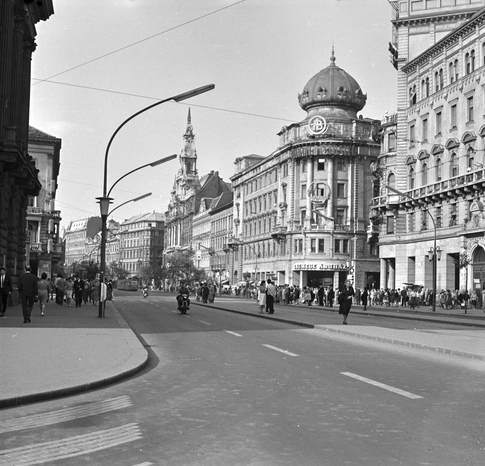
[{"label": "lower of two pale block-paved crossing stripes at bottom left", "polygon": [[36,465],[111,448],[143,438],[136,422],[52,442],[0,450],[0,465]]}]

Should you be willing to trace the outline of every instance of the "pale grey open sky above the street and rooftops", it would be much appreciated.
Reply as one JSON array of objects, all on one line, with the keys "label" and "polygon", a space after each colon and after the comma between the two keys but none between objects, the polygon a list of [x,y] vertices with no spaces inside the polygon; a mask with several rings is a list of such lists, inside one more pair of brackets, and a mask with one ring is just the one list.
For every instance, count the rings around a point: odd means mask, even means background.
[{"label": "pale grey open sky above the street and rooftops", "polygon": [[[298,93],[330,64],[332,43],[336,65],[367,94],[360,114],[380,118],[396,111],[388,0],[53,4],[54,15],[36,25],[30,124],[62,139],[56,209],[64,227],[99,215],[95,198],[102,195],[111,135],[157,100],[215,84],[210,92],[163,103],[124,126],[108,156],[108,188],[128,171],[180,152],[189,106],[199,176],[215,170],[230,181],[236,157],[271,154],[278,147],[276,133],[305,118]],[[39,81],[47,79],[52,82]],[[124,178],[113,189],[113,207],[152,195],[120,207],[113,218],[165,212],[178,167],[177,159]]]}]

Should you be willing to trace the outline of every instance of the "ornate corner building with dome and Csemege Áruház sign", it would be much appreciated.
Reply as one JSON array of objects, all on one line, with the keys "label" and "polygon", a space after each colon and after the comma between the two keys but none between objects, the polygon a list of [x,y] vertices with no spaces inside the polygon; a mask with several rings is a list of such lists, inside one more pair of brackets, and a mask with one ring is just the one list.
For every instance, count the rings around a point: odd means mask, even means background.
[{"label": "ornate corner building with dome and Csemege \u00c1ruh\u00e1z sign", "polygon": [[357,116],[366,99],[332,50],[330,65],[298,94],[307,116],[281,129],[278,149],[236,159],[233,283],[378,286],[368,230],[379,120]]}]

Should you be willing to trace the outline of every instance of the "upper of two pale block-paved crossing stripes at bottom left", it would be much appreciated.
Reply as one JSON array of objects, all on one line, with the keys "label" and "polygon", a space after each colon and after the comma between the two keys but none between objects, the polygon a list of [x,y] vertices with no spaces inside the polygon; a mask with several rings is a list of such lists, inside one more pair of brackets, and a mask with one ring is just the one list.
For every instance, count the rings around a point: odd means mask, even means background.
[{"label": "upper of two pale block-paved crossing stripes at bottom left", "polygon": [[58,422],[72,421],[81,417],[96,416],[117,409],[132,406],[129,396],[105,399],[93,403],[85,403],[71,408],[49,411],[47,413],[22,416],[12,419],[5,419],[0,425],[0,433],[21,431],[23,429],[35,429],[37,427],[49,426]]}]

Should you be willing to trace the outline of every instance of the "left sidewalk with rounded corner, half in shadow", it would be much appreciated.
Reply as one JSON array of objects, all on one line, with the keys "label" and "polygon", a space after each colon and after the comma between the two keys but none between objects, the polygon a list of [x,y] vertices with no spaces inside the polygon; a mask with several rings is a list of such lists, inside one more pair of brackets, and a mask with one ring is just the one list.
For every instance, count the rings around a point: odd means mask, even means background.
[{"label": "left sidewalk with rounded corner, half in shadow", "polygon": [[146,366],[148,353],[111,301],[97,306],[49,301],[24,324],[20,305],[0,317],[0,408],[72,395],[119,381]]}]

